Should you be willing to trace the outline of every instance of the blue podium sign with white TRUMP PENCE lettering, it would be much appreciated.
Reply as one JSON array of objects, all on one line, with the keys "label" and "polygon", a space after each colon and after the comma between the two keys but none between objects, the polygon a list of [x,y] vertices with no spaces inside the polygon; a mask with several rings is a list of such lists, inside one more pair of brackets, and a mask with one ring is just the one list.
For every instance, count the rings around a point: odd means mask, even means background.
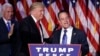
[{"label": "blue podium sign with white TRUMP PENCE lettering", "polygon": [[81,45],[28,44],[30,56],[79,56]]}]

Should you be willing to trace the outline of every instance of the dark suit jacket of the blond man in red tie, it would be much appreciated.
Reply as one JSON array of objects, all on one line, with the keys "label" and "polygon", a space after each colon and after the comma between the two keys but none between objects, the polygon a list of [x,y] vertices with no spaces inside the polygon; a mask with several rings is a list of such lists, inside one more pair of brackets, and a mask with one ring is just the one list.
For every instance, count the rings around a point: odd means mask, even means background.
[{"label": "dark suit jacket of the blond man in red tie", "polygon": [[31,16],[28,16],[21,21],[19,29],[22,41],[21,52],[29,56],[28,43],[40,44],[40,32]]}]

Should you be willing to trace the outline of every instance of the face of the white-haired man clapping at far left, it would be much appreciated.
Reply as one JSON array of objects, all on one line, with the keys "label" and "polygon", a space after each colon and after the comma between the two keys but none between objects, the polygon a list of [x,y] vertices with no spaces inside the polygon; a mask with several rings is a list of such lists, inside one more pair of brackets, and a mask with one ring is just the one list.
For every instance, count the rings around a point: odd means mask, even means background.
[{"label": "face of the white-haired man clapping at far left", "polygon": [[6,7],[6,8],[3,10],[3,17],[4,17],[6,20],[11,20],[12,15],[13,15],[13,8],[12,8],[12,7]]}]

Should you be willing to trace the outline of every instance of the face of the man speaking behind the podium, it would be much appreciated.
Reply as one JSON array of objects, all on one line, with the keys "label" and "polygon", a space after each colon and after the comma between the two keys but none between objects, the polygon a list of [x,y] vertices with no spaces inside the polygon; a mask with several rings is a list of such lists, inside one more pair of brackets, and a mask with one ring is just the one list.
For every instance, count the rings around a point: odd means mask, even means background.
[{"label": "face of the man speaking behind the podium", "polygon": [[59,14],[59,23],[63,28],[68,28],[70,26],[69,15],[65,12]]}]

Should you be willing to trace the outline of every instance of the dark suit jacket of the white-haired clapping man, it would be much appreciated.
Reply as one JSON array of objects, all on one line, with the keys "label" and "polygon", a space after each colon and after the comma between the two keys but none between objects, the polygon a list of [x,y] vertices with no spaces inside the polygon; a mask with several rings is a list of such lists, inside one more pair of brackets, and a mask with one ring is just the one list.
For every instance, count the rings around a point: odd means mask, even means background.
[{"label": "dark suit jacket of the white-haired clapping man", "polygon": [[13,34],[9,39],[6,24],[3,18],[0,18],[0,56],[9,56],[10,53],[14,56],[17,51],[18,25],[15,20],[11,20],[11,24],[15,25]]}]

